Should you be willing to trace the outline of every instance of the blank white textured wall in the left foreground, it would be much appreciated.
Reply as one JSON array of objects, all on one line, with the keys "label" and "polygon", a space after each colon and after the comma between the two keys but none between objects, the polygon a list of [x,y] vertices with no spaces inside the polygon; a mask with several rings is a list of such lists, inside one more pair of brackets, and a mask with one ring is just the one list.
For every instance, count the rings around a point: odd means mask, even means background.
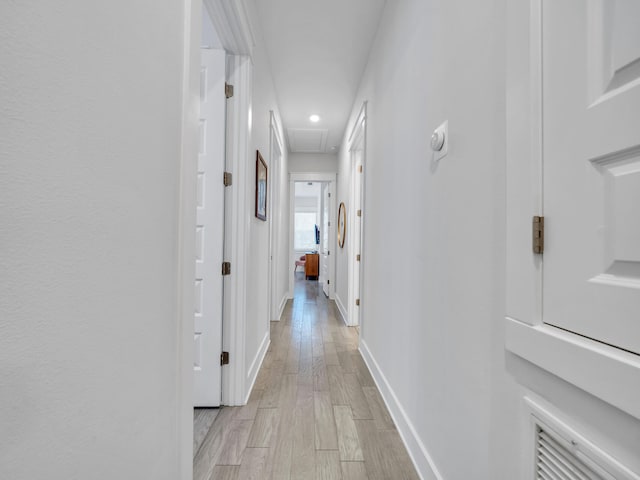
[{"label": "blank white textured wall in the left foreground", "polygon": [[0,478],[186,478],[184,8],[0,7]]}]

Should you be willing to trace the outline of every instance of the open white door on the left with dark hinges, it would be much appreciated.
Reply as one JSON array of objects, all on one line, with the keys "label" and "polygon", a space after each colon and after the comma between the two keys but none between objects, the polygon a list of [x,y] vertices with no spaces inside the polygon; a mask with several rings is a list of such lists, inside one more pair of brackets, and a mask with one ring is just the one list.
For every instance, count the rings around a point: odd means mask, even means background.
[{"label": "open white door on the left with dark hinges", "polygon": [[196,213],[194,406],[220,405],[224,238],[225,52],[201,50]]}]

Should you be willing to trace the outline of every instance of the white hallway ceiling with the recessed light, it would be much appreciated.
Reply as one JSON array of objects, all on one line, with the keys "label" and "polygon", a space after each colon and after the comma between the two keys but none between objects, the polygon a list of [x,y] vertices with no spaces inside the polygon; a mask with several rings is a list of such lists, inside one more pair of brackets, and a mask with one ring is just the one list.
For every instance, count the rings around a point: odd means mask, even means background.
[{"label": "white hallway ceiling with the recessed light", "polygon": [[385,0],[255,2],[290,151],[335,153]]}]

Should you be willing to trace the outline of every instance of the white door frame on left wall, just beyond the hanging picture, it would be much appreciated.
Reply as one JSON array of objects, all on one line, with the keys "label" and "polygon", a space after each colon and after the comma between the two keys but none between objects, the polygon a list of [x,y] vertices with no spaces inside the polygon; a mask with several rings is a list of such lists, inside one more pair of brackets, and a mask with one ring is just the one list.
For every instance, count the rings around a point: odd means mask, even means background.
[{"label": "white door frame on left wall, just beyond the hanging picture", "polygon": [[283,261],[278,255],[278,246],[280,245],[280,232],[282,231],[280,178],[284,150],[282,148],[282,136],[278,130],[278,122],[273,111],[269,112],[269,118],[269,177],[271,178],[269,187],[269,205],[271,205],[271,214],[269,215],[269,319],[280,320],[284,304],[282,303],[282,298],[278,298],[278,279]]}]

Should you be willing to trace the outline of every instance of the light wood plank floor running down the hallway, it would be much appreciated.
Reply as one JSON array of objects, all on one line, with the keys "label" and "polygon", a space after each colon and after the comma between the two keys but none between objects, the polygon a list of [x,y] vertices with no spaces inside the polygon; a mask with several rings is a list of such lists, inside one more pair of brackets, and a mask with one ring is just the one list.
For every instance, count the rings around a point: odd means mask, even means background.
[{"label": "light wood plank floor running down the hallway", "polygon": [[364,361],[318,282],[271,323],[249,403],[220,409],[194,480],[418,479]]}]

